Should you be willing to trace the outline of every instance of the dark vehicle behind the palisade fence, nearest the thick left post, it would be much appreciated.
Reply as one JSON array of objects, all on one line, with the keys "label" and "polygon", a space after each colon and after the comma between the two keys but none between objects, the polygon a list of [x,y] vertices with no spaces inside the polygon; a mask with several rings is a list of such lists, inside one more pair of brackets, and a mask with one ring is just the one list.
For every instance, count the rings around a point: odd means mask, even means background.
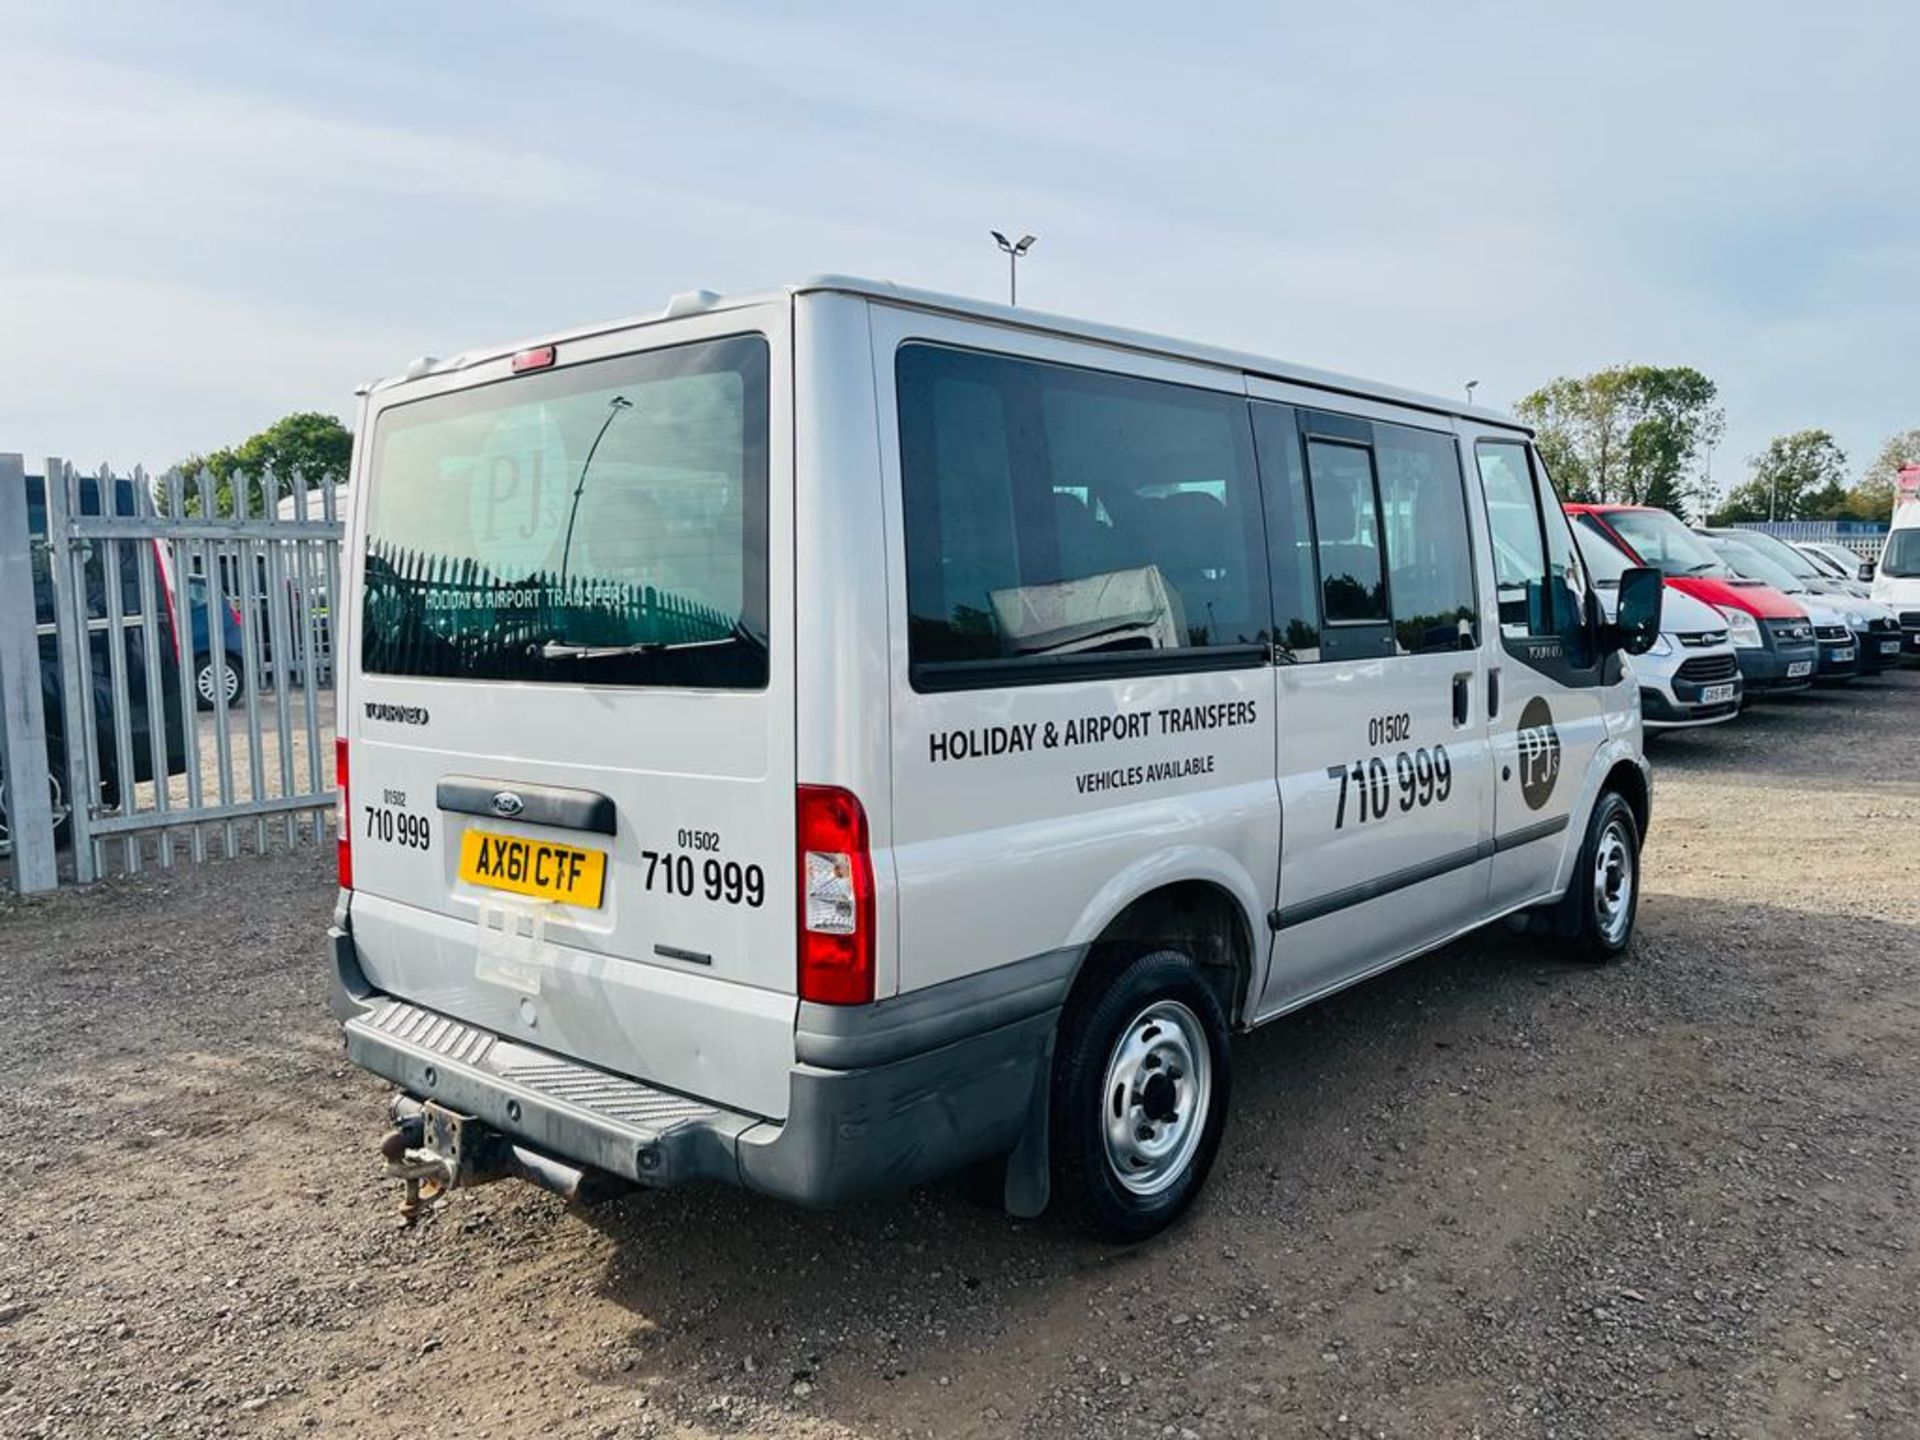
[{"label": "dark vehicle behind the palisade fence, nearest the thick left post", "polygon": [[[84,476],[79,482],[81,515],[134,515],[138,497],[131,480],[115,480],[111,492],[102,495],[100,480]],[[111,505],[111,511],[108,509]],[[36,474],[27,476],[27,528],[35,540],[46,540],[46,480]],[[186,768],[186,741],[180,720],[180,678],[179,678],[179,632],[173,622],[173,609],[167,603],[165,564],[156,551],[154,561],[154,624],[148,626],[142,609],[140,563],[131,543],[117,545],[119,553],[119,636],[111,634],[108,609],[106,566],[94,561],[86,568],[86,628],[88,659],[92,676],[94,705],[94,751],[98,755],[100,797],[106,806],[119,804],[127,783],[154,780],[154,753],[161,755],[167,774]],[[56,814],[56,833],[63,833],[65,816],[71,804],[67,795],[67,747],[79,728],[69,724],[54,632],[54,582],[48,564],[48,551],[35,549],[33,555],[33,611],[40,637],[40,699],[46,714],[46,751],[50,774],[50,799]],[[157,636],[161,653],[157,660],[159,693],[148,689],[148,636]],[[121,647],[121,660],[127,678],[127,732],[132,774],[121,774],[119,745],[113,730],[113,645]],[[12,843],[6,833],[4,791],[8,778],[0,776],[0,843]]]}]

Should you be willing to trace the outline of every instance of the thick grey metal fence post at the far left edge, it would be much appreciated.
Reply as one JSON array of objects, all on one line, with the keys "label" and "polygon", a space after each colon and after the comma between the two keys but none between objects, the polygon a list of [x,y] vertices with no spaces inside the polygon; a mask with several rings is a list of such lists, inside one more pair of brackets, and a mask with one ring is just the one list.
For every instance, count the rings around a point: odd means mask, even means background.
[{"label": "thick grey metal fence post at the far left edge", "polygon": [[36,614],[27,465],[19,455],[0,455],[0,774],[6,776],[6,822],[13,841],[13,889],[21,895],[60,883]]}]

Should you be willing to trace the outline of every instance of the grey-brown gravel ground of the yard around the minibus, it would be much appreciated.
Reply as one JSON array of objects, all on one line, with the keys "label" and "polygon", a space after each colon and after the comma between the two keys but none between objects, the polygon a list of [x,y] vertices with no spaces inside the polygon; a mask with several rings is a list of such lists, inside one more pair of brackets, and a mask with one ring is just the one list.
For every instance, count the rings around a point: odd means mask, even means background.
[{"label": "grey-brown gravel ground of the yard around the minibus", "polygon": [[0,899],[0,1434],[1920,1436],[1916,739],[1908,670],[1657,743],[1636,954],[1246,1037],[1135,1250],[952,1187],[399,1229],[324,856]]}]

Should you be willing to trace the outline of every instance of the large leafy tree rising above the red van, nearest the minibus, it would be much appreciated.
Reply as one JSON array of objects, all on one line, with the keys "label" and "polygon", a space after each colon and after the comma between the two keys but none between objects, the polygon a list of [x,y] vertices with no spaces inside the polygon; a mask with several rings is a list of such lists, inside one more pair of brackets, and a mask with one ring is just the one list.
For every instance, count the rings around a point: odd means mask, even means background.
[{"label": "large leafy tree rising above the red van, nearest the minibus", "polygon": [[1690,365],[1615,365],[1561,376],[1515,411],[1569,499],[1686,513],[1701,503],[1697,461],[1726,428],[1713,380]]}]

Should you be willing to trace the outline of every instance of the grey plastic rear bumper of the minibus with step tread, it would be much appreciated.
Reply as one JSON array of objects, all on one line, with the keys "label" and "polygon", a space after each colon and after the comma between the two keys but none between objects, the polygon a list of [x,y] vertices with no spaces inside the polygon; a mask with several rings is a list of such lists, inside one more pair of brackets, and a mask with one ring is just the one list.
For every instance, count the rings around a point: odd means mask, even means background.
[{"label": "grey plastic rear bumper of the minibus with step tread", "polygon": [[334,925],[328,939],[348,1056],[407,1094],[639,1185],[726,1181],[806,1206],[918,1185],[1012,1150],[1035,1106],[1044,1110],[1050,1039],[1069,979],[1060,968],[1058,979],[1048,973],[1035,987],[1025,972],[1027,996],[1014,1012],[981,1006],[989,1027],[968,1035],[943,1027],[929,1048],[902,1052],[899,1035],[876,1046],[818,1046],[889,1058],[849,1068],[795,1064],[787,1117],[770,1121],[380,995],[359,968],[348,927]]}]

